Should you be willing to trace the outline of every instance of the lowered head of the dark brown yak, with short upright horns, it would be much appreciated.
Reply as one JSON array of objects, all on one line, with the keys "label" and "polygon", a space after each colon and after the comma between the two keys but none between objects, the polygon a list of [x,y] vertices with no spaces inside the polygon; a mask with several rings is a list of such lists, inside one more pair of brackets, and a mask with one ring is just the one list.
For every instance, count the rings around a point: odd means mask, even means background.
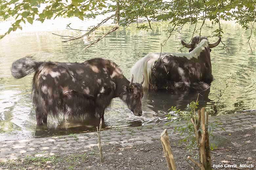
[{"label": "lowered head of the dark brown yak, with short upright horns", "polygon": [[133,76],[129,86],[123,85],[124,93],[122,95],[122,100],[127,104],[128,108],[136,116],[142,115],[141,100],[143,97],[143,87],[144,75],[141,83],[133,83]]}]

